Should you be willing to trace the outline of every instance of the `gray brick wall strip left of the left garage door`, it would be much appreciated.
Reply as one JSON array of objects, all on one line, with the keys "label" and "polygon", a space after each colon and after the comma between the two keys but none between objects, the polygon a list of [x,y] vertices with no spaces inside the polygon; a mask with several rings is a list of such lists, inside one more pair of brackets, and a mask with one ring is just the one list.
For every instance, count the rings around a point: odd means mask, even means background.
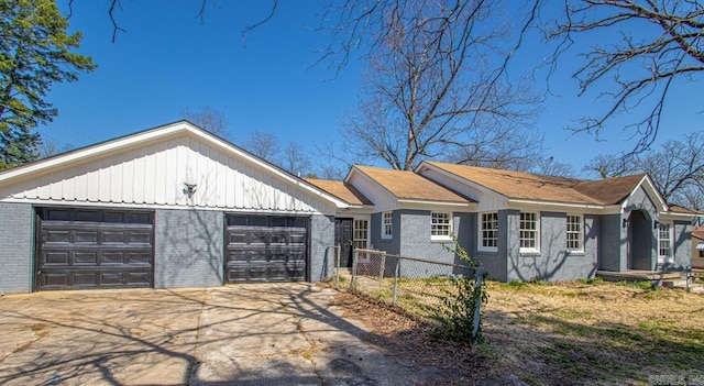
[{"label": "gray brick wall strip left of the left garage door", "polygon": [[30,203],[0,202],[0,291],[31,293],[34,210]]}]

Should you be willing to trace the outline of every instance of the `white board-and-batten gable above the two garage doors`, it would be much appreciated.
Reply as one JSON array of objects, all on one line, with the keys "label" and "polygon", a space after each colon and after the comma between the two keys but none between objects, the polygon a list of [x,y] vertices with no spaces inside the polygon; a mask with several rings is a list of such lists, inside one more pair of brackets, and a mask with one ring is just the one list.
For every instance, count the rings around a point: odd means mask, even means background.
[{"label": "white board-and-batten gable above the two garage doors", "polygon": [[323,214],[345,206],[186,121],[0,173],[0,201]]}]

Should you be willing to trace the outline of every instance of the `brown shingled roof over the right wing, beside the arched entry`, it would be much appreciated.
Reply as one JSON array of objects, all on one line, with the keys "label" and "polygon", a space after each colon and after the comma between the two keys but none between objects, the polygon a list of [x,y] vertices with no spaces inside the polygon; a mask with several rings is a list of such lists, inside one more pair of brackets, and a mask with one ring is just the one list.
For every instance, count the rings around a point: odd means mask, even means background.
[{"label": "brown shingled roof over the right wing, beside the arched entry", "polygon": [[584,180],[439,162],[427,162],[427,164],[508,198],[582,205],[620,203],[646,176],[637,174],[619,178]]}]

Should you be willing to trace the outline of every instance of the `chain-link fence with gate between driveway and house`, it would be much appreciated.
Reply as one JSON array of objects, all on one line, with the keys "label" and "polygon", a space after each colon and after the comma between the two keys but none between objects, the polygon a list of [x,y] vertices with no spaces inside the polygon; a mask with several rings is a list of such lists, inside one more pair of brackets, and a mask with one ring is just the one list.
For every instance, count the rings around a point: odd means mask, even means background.
[{"label": "chain-link fence with gate between driveway and house", "polygon": [[[458,286],[452,279],[471,277],[481,288],[482,268],[466,265],[404,257],[375,250],[354,250],[352,267],[336,269],[336,283],[340,288],[363,294],[383,302],[403,308],[424,319],[429,318],[442,299],[454,295]],[[474,315],[479,329],[481,301]]]}]

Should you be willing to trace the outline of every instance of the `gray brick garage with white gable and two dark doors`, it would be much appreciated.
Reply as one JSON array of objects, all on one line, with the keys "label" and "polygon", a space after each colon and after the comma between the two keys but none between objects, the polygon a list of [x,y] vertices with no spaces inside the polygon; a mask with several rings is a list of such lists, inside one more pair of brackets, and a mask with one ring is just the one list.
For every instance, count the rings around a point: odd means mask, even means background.
[{"label": "gray brick garage with white gable and two dark doors", "polygon": [[182,121],[0,173],[0,291],[317,282],[345,206]]}]

